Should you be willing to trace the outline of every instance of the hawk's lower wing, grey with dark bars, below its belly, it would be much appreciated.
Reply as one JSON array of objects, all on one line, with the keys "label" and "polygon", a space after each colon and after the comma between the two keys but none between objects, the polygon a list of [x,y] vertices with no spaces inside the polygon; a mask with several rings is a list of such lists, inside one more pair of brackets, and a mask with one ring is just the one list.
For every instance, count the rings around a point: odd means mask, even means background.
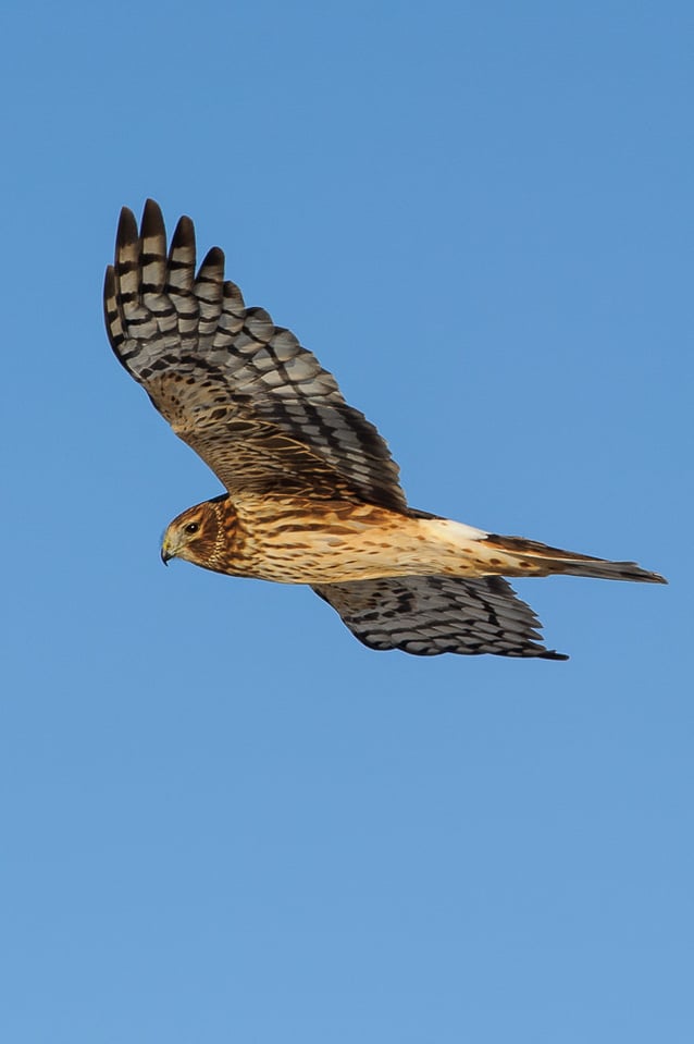
[{"label": "hawk's lower wing, grey with dark bars, below its belly", "polygon": [[384,577],[313,590],[370,649],[568,660],[541,644],[540,621],[498,576]]}]

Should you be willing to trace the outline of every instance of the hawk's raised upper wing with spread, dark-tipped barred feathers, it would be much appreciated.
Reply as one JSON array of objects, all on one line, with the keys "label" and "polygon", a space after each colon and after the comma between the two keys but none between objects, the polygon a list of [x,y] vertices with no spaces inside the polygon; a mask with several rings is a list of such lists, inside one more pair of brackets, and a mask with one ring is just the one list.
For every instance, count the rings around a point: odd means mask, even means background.
[{"label": "hawk's raised upper wing with spread, dark-tipped barred feathers", "polygon": [[398,468],[334,377],[262,308],[224,281],[214,247],[195,274],[195,231],[182,218],[166,257],[161,210],[138,234],[121,212],[104,283],[106,324],[123,366],[230,490],[357,496],[405,511]]}]

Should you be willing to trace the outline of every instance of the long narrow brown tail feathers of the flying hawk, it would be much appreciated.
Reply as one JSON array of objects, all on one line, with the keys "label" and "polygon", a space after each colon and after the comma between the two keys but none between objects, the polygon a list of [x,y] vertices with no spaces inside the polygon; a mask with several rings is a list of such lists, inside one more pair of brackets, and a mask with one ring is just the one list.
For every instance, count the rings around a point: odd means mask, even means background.
[{"label": "long narrow brown tail feathers of the flying hawk", "polygon": [[[550,576],[567,574],[586,576],[600,580],[640,580],[645,584],[667,584],[659,573],[642,569],[635,562],[610,562],[573,551],[548,548],[524,537],[499,537],[489,533],[484,541],[489,550],[505,552],[504,576]],[[508,563],[508,568],[506,567]]]}]

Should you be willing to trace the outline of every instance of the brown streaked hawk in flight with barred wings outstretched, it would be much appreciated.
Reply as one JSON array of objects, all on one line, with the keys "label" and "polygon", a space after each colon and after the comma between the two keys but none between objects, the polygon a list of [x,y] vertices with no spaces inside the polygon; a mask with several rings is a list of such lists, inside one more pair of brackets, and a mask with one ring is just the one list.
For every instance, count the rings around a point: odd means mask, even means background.
[{"label": "brown streaked hawk in flight with barred wings outstretched", "polygon": [[226,492],[189,507],[163,538],[179,557],[230,576],[308,584],[372,649],[567,658],[503,577],[666,581],[608,562],[500,537],[409,507],[385,441],[333,376],[247,308],[214,247],[196,273],[193,222],[169,251],[161,210],[138,232],[124,208],[104,285],[115,355]]}]

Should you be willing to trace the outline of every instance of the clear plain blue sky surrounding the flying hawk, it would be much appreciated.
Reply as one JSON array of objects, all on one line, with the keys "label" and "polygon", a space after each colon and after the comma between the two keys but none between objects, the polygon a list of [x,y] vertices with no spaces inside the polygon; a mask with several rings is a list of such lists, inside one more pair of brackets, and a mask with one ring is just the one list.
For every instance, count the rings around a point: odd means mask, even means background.
[{"label": "clear plain blue sky surrounding the flying hawk", "polygon": [[[10,2],[0,1039],[694,1040],[687,2]],[[112,357],[158,199],[568,663],[159,561],[220,491]]]}]

